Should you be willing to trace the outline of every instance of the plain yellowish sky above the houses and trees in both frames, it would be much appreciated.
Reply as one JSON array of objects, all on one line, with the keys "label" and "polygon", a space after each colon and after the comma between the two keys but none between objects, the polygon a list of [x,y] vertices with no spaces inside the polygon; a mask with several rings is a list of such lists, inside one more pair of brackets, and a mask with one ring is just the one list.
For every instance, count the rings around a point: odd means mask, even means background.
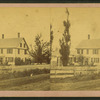
[{"label": "plain yellowish sky above the houses and trees in both frames", "polygon": [[[100,38],[100,8],[68,8],[71,23],[71,48],[90,34],[91,39]],[[59,47],[64,32],[63,21],[67,19],[66,8],[2,7],[0,8],[0,38],[16,38],[20,32],[28,43],[34,44],[37,34],[49,41],[50,23],[54,32],[53,48]]]}]

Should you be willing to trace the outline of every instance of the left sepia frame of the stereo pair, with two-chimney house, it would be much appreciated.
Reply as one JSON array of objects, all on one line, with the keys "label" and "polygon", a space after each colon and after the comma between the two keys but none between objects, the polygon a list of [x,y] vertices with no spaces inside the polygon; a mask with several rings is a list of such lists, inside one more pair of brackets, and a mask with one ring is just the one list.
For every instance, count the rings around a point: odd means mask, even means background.
[{"label": "left sepia frame of the stereo pair, with two-chimney house", "polygon": [[0,8],[0,90],[50,90],[50,10]]}]

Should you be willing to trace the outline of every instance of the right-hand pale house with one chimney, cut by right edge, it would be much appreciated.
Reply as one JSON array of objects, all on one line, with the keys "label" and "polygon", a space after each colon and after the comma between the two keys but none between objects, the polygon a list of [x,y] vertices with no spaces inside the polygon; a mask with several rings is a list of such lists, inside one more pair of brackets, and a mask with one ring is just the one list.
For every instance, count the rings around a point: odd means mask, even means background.
[{"label": "right-hand pale house with one chimney, cut by right edge", "polygon": [[82,40],[76,47],[76,50],[77,56],[85,58],[85,64],[100,64],[100,39],[90,39],[90,35],[88,35],[88,39]]}]

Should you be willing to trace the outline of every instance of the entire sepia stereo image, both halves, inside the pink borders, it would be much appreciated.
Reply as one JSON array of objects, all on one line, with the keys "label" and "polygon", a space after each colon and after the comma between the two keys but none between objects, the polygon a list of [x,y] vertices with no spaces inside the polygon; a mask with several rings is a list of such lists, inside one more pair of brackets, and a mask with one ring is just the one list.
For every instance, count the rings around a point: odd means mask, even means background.
[{"label": "entire sepia stereo image, both halves, inside the pink borders", "polygon": [[100,7],[0,7],[0,91],[100,91],[99,18]]}]

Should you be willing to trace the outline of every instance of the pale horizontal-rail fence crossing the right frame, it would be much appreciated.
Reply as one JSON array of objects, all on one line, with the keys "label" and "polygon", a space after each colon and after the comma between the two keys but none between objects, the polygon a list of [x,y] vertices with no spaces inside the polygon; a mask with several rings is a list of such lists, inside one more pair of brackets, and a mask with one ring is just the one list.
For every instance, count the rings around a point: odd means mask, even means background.
[{"label": "pale horizontal-rail fence crossing the right frame", "polygon": [[68,78],[77,75],[90,75],[90,74],[98,74],[100,73],[100,66],[96,67],[56,67],[51,68],[50,70],[50,78]]}]

